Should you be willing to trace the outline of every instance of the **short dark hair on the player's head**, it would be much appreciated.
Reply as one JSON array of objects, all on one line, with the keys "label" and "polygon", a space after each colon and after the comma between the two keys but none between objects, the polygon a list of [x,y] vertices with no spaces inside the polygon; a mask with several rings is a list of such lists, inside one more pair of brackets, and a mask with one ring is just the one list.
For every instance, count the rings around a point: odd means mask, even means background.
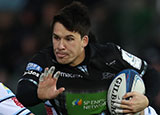
[{"label": "short dark hair on the player's head", "polygon": [[91,28],[88,8],[77,1],[74,1],[70,5],[64,7],[57,15],[54,16],[52,29],[56,22],[63,24],[69,31],[78,32],[81,37],[89,35]]}]

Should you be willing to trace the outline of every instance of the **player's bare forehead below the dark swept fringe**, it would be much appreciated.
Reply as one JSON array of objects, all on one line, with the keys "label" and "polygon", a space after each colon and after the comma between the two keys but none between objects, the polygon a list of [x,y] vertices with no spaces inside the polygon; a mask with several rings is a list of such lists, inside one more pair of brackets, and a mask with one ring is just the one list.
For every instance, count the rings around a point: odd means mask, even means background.
[{"label": "player's bare forehead below the dark swept fringe", "polygon": [[60,36],[60,37],[65,37],[65,36],[68,36],[68,35],[79,36],[80,37],[80,34],[78,32],[71,32],[71,31],[67,30],[67,28],[65,28],[63,26],[63,24],[61,24],[59,22],[56,22],[54,24],[53,33]]}]

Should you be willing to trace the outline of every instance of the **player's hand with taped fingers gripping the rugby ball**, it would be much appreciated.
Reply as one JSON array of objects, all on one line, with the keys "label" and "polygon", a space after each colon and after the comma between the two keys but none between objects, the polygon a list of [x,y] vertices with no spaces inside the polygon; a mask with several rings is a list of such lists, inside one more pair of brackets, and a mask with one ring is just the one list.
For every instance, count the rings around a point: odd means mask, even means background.
[{"label": "player's hand with taped fingers gripping the rugby ball", "polygon": [[[129,98],[129,100],[126,100]],[[129,92],[123,96],[123,100],[114,103],[117,113],[134,114],[143,111],[149,104],[148,98],[138,92]]]}]

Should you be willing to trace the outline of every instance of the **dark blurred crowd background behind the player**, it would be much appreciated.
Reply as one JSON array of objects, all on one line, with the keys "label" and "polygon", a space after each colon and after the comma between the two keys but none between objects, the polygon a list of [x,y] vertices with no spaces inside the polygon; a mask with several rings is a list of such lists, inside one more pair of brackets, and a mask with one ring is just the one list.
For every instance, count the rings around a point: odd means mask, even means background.
[{"label": "dark blurred crowd background behind the player", "polygon": [[[13,92],[28,59],[50,44],[52,17],[72,1],[0,0],[0,81]],[[100,43],[114,42],[160,72],[160,0],[77,1],[88,6]],[[154,100],[160,114],[160,93]],[[46,114],[43,104],[29,109]]]}]

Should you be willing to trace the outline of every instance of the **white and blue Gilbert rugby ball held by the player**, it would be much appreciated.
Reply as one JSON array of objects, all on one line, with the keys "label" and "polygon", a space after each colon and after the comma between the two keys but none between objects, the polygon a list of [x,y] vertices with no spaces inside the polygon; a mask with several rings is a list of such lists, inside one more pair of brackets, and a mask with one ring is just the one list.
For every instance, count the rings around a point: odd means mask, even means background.
[{"label": "white and blue Gilbert rugby ball held by the player", "polygon": [[122,100],[127,92],[132,91],[145,94],[145,85],[138,72],[125,69],[115,76],[108,90],[107,103],[111,114],[116,114],[113,104],[117,100]]}]

